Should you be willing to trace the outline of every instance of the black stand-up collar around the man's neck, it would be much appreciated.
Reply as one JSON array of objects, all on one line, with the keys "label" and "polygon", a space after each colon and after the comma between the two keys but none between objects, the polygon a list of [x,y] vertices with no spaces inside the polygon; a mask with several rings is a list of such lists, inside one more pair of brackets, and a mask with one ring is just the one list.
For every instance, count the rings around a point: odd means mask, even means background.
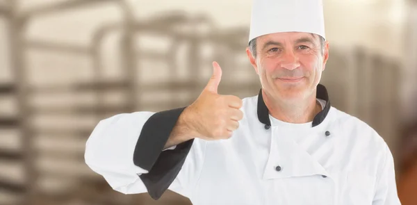
[{"label": "black stand-up collar around the man's neck", "polygon": [[[329,110],[330,110],[330,100],[329,100],[329,95],[327,94],[327,89],[325,85],[321,85],[321,84],[317,85],[316,97],[318,99],[325,100],[326,106],[323,110],[320,111],[320,113],[316,115],[316,117],[314,117],[313,126],[317,126],[318,124],[323,122],[323,120],[325,120],[325,117],[327,116],[327,113],[329,113]],[[263,97],[262,97],[262,89],[259,90],[259,95],[258,95],[258,119],[263,124],[267,124],[271,126],[271,122],[269,119],[269,110],[266,107],[265,102],[263,101]]]}]

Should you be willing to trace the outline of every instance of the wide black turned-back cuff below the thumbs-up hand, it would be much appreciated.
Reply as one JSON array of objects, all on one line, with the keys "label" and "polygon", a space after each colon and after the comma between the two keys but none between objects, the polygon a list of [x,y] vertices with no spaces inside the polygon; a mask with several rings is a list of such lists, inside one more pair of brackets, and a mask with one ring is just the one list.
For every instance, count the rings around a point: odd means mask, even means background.
[{"label": "wide black turned-back cuff below the thumbs-up hand", "polygon": [[177,177],[193,145],[194,140],[188,140],[175,149],[162,151],[183,110],[165,110],[149,117],[136,143],[133,163],[149,171],[140,179],[153,199],[159,199]]}]

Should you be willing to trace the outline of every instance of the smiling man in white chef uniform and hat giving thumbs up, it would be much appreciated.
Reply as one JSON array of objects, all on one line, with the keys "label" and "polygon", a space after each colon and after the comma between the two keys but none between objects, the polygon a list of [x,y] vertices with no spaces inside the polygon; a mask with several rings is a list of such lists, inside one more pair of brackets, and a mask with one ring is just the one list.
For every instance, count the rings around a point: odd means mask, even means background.
[{"label": "smiling man in white chef uniform and hat giving thumbs up", "polygon": [[218,94],[222,69],[189,106],[101,120],[85,163],[124,194],[170,189],[195,205],[400,204],[379,134],[331,106],[321,0],[254,0],[250,63],[259,93]]}]

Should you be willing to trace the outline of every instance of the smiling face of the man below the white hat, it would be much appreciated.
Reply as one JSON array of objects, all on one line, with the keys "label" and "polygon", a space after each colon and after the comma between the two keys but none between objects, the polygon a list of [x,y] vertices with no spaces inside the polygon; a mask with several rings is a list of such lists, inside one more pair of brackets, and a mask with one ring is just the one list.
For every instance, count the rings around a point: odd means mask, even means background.
[{"label": "smiling face of the man below the white hat", "polygon": [[256,40],[256,58],[247,55],[261,79],[263,90],[273,99],[296,102],[316,91],[329,56],[318,35],[272,33]]}]

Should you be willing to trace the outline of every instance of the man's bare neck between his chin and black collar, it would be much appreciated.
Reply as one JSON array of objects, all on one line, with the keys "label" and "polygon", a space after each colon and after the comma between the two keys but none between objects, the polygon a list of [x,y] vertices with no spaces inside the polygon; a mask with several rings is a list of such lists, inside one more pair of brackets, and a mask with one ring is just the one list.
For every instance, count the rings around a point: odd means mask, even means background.
[{"label": "man's bare neck between his chin and black collar", "polygon": [[288,123],[301,124],[311,122],[322,110],[321,105],[316,101],[316,92],[313,92],[313,95],[307,99],[297,101],[297,103],[273,99],[263,90],[262,97],[270,115]]}]

